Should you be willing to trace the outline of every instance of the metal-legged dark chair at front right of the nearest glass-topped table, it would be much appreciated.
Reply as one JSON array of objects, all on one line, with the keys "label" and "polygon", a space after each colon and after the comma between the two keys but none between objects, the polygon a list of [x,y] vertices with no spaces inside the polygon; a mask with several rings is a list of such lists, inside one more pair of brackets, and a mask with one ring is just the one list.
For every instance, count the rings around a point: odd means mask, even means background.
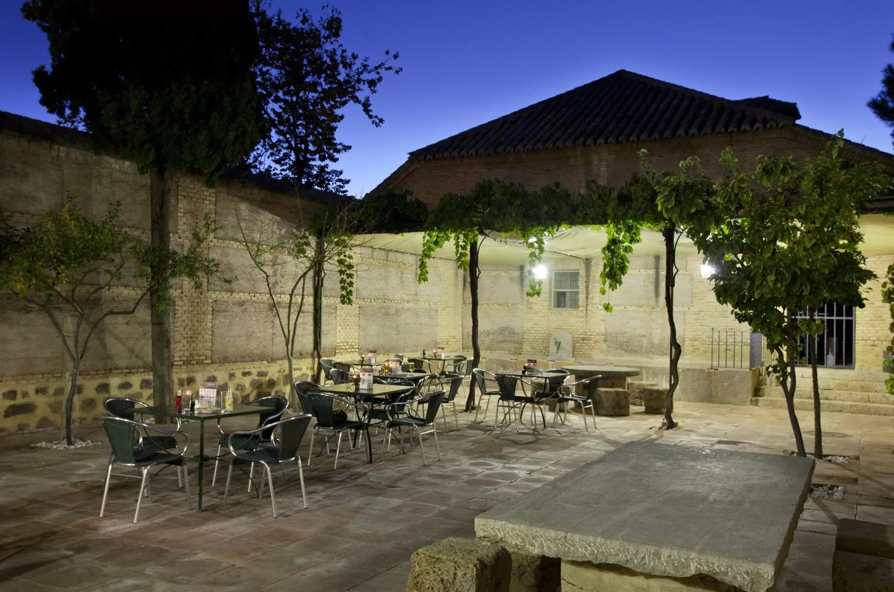
[{"label": "metal-legged dark chair at front right of the nearest glass-topped table", "polygon": [[[301,457],[298,454],[298,447],[305,433],[308,431],[310,423],[310,414],[304,413],[289,419],[277,421],[274,424],[268,424],[265,427],[258,427],[248,432],[233,432],[230,435],[230,467],[226,473],[226,486],[223,487],[223,505],[226,506],[227,494],[230,491],[230,479],[232,478],[232,468],[240,462],[250,462],[254,467],[256,462],[264,465],[267,473],[267,483],[270,486],[270,504],[274,509],[274,518],[278,518],[276,513],[276,495],[274,494],[274,474],[270,469],[271,464],[283,465],[285,462],[298,461],[298,478],[301,483],[301,501],[304,507],[308,507],[308,494],[304,488],[304,471],[301,469]],[[238,439],[251,438],[260,436],[263,430],[270,430],[270,439],[274,442],[273,446],[262,446],[255,450],[245,450],[238,446]],[[285,474],[285,466],[283,465],[283,475]],[[264,474],[261,474],[261,485],[257,488],[257,497],[264,497]],[[252,481],[249,473],[249,481]],[[249,485],[249,491],[250,491]]]}]

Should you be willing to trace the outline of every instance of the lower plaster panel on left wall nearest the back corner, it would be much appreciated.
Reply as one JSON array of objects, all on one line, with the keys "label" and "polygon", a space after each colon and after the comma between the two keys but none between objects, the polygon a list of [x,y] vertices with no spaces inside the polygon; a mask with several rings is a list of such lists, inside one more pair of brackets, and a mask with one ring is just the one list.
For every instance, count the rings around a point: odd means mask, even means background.
[{"label": "lower plaster panel on left wall nearest the back corner", "polygon": [[359,308],[361,351],[376,350],[380,356],[389,356],[437,346],[437,309],[372,302],[363,302]]}]

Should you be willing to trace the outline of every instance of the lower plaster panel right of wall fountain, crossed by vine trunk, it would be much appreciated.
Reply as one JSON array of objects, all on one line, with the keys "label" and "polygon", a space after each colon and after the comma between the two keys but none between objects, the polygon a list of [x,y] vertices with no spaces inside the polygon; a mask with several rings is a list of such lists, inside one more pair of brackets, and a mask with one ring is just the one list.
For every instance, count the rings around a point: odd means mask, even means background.
[{"label": "lower plaster panel right of wall fountain, crossed by vine trunk", "polygon": [[[677,340],[684,343],[686,312],[676,310]],[[670,340],[664,310],[614,309],[605,315],[605,354],[611,358],[667,356]]]}]

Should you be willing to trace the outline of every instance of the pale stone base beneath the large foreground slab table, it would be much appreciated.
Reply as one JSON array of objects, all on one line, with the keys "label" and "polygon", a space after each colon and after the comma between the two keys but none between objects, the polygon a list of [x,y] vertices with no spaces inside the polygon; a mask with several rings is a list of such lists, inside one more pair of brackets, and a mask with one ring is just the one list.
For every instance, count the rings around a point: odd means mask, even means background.
[{"label": "pale stone base beneath the large foreground slab table", "polygon": [[561,562],[562,592],[740,592],[710,576],[668,578],[620,565]]}]

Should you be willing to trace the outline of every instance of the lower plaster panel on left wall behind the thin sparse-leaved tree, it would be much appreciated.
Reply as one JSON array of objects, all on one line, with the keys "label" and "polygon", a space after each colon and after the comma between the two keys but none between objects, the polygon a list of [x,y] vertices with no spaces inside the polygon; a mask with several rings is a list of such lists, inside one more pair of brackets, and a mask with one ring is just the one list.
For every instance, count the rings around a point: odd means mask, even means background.
[{"label": "lower plaster panel on left wall behind the thin sparse-leaved tree", "polygon": [[[313,349],[311,300],[298,323],[295,357],[310,355]],[[264,300],[215,300],[212,320],[211,359],[215,364],[285,358],[285,343],[273,305]],[[284,314],[284,313],[283,313]],[[335,305],[323,305],[324,355],[335,350]]]}]

